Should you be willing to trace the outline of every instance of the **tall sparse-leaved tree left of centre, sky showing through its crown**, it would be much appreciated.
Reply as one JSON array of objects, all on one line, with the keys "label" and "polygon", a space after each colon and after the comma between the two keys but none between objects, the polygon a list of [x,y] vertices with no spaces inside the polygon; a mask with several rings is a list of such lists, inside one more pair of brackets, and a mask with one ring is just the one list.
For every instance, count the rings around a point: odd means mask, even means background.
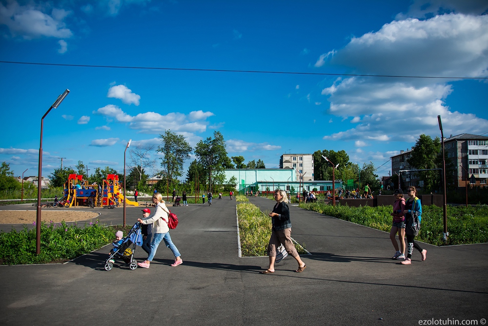
[{"label": "tall sparse-leaved tree left of centre, sky showing through its crown", "polygon": [[182,175],[183,163],[190,158],[192,148],[183,135],[178,135],[171,130],[165,130],[160,137],[163,145],[158,146],[157,151],[164,155],[161,158],[161,166],[168,182],[171,182],[173,178]]}]

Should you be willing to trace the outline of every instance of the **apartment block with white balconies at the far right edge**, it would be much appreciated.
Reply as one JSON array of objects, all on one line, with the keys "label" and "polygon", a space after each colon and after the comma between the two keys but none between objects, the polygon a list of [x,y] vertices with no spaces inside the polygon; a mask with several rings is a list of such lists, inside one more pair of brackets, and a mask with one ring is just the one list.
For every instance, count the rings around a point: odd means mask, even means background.
[{"label": "apartment block with white balconies at the far right edge", "polygon": [[[466,183],[473,186],[486,187],[488,179],[488,137],[462,133],[450,135],[444,139],[446,161],[453,164],[447,174],[454,176],[451,186],[465,187]],[[470,179],[475,181],[474,184]]]}]

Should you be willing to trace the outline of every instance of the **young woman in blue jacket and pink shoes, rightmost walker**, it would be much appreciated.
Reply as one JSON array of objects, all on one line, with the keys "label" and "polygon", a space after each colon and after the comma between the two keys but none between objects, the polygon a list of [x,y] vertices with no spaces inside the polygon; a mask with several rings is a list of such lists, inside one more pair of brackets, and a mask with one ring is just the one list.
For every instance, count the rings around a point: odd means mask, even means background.
[{"label": "young woman in blue jacket and pink shoes, rightmost walker", "polygon": [[413,248],[417,249],[420,254],[422,255],[422,261],[427,259],[427,250],[422,249],[417,242],[413,239],[416,235],[418,235],[420,230],[420,220],[422,219],[422,204],[420,203],[420,199],[415,196],[417,190],[414,186],[408,187],[408,198],[407,202],[405,203],[405,224],[406,229],[405,233],[407,234],[407,258],[405,261],[402,261],[402,264],[409,265],[412,263],[412,253]]}]

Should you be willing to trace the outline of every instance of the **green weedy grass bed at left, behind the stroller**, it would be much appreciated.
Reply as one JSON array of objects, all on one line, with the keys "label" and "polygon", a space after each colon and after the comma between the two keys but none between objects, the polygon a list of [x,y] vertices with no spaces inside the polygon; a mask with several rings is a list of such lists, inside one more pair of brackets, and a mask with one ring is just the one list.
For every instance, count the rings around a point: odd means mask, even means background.
[{"label": "green weedy grass bed at left, behind the stroller", "polygon": [[131,226],[102,226],[95,223],[79,227],[75,224],[41,224],[41,254],[36,255],[36,229],[0,233],[0,264],[36,264],[69,261],[112,242],[115,232],[123,230],[124,236]]}]

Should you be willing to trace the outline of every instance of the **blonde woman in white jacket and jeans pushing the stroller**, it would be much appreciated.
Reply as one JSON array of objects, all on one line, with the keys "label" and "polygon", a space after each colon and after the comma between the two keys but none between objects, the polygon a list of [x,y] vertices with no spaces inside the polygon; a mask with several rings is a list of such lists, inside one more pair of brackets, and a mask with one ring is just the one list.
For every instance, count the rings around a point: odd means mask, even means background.
[{"label": "blonde woman in white jacket and jeans pushing the stroller", "polygon": [[154,223],[152,229],[153,239],[151,242],[151,253],[145,261],[138,262],[137,264],[140,267],[149,268],[149,264],[153,260],[154,255],[156,255],[156,250],[158,249],[160,242],[164,240],[166,247],[171,249],[173,255],[175,255],[175,262],[172,263],[171,266],[178,266],[183,263],[183,260],[178,248],[176,248],[171,240],[171,236],[169,235],[169,227],[167,223],[169,210],[166,207],[163,196],[160,193],[154,193],[152,202],[156,204],[156,211],[154,214],[146,218],[138,218],[138,221],[142,224]]}]

